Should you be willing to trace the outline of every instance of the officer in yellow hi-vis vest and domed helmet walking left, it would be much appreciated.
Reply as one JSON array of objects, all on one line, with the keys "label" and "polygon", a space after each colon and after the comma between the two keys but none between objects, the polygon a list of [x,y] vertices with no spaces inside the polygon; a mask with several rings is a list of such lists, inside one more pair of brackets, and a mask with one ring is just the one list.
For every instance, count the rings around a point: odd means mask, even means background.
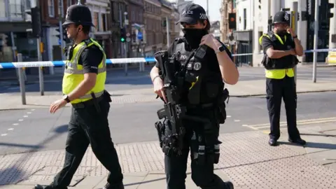
[{"label": "officer in yellow hi-vis vest and domed helmet walking left", "polygon": [[73,45],[66,55],[64,97],[51,104],[50,113],[68,103],[72,105],[65,162],[50,185],[34,188],[67,188],[90,144],[94,155],[110,172],[104,188],[122,189],[123,174],[108,122],[111,95],[104,90],[106,55],[102,46],[88,36],[90,27],[94,27],[89,8],[81,4],[70,6],[63,26]]}]

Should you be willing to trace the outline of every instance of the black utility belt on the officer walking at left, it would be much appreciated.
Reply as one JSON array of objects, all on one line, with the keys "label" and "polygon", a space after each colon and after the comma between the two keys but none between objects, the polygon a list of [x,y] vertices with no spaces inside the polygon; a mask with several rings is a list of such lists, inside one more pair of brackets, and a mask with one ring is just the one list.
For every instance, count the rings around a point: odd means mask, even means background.
[{"label": "black utility belt on the officer walking at left", "polygon": [[101,102],[102,100],[107,100],[108,102],[112,102],[111,100],[111,94],[109,94],[109,92],[107,92],[106,90],[104,90],[104,93],[102,95],[100,95],[99,97],[96,97],[94,95],[94,93],[91,93],[92,99],[87,100],[85,102],[80,102],[80,103],[76,103],[76,104],[71,104],[73,106],[73,109],[85,109],[89,106],[94,105],[95,109],[97,109],[97,112],[100,112],[100,106],[99,106],[99,102]]}]

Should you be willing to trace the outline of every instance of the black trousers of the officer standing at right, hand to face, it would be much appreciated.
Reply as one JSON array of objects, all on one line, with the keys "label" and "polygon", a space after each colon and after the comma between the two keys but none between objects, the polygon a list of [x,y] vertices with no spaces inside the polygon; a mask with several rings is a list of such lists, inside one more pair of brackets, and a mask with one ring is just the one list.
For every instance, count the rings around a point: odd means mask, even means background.
[{"label": "black trousers of the officer standing at right, hand to face", "polygon": [[300,139],[296,125],[297,95],[295,78],[286,76],[283,79],[266,78],[267,109],[271,132],[269,138],[278,140],[280,137],[281,100],[285,103],[287,129],[290,139]]}]

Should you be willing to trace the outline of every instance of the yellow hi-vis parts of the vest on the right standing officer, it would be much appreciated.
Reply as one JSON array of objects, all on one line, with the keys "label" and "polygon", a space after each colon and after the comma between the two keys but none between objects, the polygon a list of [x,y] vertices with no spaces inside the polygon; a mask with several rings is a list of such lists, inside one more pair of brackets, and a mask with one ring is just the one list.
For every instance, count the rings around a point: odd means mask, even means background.
[{"label": "yellow hi-vis parts of the vest on the right standing officer", "polygon": [[[284,45],[282,39],[280,36],[278,36],[277,34],[274,34],[276,36],[276,38],[280,41],[280,43],[282,45]],[[263,34],[262,36],[260,36],[259,38],[259,43],[261,45],[262,42],[262,37],[266,36],[267,38],[270,39],[268,34]],[[286,42],[286,36],[285,36],[285,42]],[[265,76],[266,78],[274,78],[274,79],[282,79],[285,78],[285,76],[288,77],[294,77],[294,69],[290,68],[290,69],[272,69],[272,70],[267,70],[265,69]]]}]

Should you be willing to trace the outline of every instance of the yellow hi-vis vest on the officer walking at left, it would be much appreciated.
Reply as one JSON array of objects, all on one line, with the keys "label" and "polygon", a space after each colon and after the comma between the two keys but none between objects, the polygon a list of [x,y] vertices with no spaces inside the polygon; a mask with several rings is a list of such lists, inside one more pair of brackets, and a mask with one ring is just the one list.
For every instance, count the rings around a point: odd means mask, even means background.
[{"label": "yellow hi-vis vest on the officer walking at left", "polygon": [[97,41],[94,41],[92,38],[90,38],[87,41],[83,41],[82,43],[76,45],[76,47],[73,49],[73,55],[71,59],[66,60],[66,69],[64,70],[64,77],[62,83],[63,94],[69,94],[84,79],[83,65],[78,64],[78,60],[80,54],[83,52],[85,48],[90,47],[91,45],[97,45],[99,49],[102,50],[103,52],[103,59],[98,66],[96,85],[94,85],[92,90],[87,92],[84,96],[80,97],[79,99],[74,99],[73,101],[71,101],[71,104],[77,104],[92,99],[91,94],[92,92],[94,93],[95,97],[100,97],[104,93],[105,80],[106,80],[106,55],[102,46],[99,45]]}]

